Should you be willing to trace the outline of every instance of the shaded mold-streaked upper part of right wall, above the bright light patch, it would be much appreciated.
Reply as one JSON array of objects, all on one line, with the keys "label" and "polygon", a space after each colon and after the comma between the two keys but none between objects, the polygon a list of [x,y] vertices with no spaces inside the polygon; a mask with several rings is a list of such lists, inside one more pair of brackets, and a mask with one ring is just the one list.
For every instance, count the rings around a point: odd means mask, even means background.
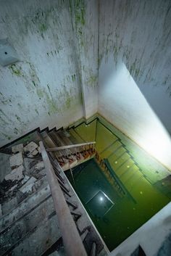
[{"label": "shaded mold-streaked upper part of right wall, above the bright light patch", "polygon": [[[109,58],[113,58],[113,70],[123,62],[171,133],[170,0],[109,0],[108,4],[100,1],[99,7],[101,77]],[[101,66],[102,59],[106,67]]]}]

